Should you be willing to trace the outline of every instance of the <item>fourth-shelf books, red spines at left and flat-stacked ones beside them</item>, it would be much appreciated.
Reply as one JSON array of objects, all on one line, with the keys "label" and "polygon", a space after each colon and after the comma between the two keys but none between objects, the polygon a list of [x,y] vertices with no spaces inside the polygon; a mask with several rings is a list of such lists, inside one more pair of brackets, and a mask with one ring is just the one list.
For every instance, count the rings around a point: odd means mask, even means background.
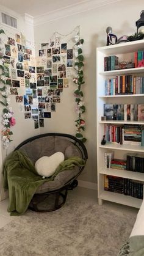
[{"label": "fourth-shelf books, red spines at left and flat-stacked ones beside them", "polygon": [[117,142],[124,145],[143,146],[142,125],[104,125],[106,142]]}]

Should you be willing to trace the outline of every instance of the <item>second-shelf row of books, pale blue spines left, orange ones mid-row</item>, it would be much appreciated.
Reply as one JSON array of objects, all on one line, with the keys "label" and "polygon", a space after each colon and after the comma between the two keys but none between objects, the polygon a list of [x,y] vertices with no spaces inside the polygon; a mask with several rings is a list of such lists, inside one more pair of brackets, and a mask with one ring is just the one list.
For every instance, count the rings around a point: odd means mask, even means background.
[{"label": "second-shelf row of books, pale blue spines left, orange ones mid-row", "polygon": [[144,76],[122,75],[105,80],[105,95],[143,94]]}]

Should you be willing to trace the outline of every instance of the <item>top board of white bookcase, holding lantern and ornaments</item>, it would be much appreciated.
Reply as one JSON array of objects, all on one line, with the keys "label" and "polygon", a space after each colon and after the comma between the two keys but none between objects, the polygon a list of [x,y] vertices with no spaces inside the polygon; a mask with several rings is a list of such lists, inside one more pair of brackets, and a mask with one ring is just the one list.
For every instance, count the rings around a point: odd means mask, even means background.
[{"label": "top board of white bookcase, holding lantern and ornaments", "polygon": [[144,50],[144,40],[136,40],[134,42],[119,43],[118,45],[103,46],[97,48],[97,51],[106,54],[107,56],[113,54],[132,53],[134,51]]}]

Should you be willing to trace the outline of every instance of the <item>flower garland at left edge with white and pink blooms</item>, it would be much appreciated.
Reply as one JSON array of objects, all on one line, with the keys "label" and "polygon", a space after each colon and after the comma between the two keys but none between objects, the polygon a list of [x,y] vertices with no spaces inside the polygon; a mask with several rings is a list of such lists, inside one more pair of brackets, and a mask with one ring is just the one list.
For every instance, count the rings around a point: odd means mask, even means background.
[{"label": "flower garland at left edge with white and pink blooms", "polygon": [[[4,34],[4,31],[2,29],[0,30],[0,34]],[[15,125],[15,118],[13,117],[12,108],[8,107],[10,104],[9,70],[6,66],[3,65],[3,57],[4,48],[0,48],[0,82],[1,84],[3,84],[3,87],[0,87],[0,93],[3,97],[3,101],[0,100],[0,103],[5,107],[3,109],[2,115],[2,125],[4,125],[4,128],[2,128],[1,131],[1,140],[3,142],[4,147],[8,147],[9,142],[12,141],[12,139],[10,139],[10,136],[13,134],[12,131],[10,131],[10,127]]]}]

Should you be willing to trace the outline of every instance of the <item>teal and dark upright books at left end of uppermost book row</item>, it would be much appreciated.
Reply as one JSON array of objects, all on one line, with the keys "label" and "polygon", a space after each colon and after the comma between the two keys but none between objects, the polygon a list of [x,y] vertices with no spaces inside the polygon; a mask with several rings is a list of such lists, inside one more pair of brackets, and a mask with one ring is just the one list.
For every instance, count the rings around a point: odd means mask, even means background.
[{"label": "teal and dark upright books at left end of uppermost book row", "polygon": [[104,57],[104,71],[115,70],[116,65],[118,65],[117,56],[113,55]]}]

